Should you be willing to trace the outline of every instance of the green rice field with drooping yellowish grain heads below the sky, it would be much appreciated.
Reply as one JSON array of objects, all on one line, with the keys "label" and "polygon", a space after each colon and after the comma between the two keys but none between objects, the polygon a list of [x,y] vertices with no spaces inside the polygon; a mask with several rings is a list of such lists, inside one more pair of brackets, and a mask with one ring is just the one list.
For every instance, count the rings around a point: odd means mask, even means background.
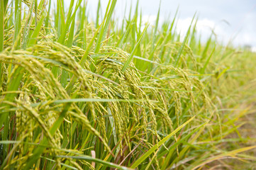
[{"label": "green rice field with drooping yellowish grain heads below the sky", "polygon": [[0,169],[253,169],[255,53],[116,1],[1,0]]}]

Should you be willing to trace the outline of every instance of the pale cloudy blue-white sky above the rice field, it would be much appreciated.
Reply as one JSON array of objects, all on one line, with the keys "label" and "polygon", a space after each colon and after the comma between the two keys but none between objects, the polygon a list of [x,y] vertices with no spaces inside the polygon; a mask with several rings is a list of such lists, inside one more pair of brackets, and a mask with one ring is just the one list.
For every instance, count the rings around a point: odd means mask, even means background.
[{"label": "pale cloudy blue-white sky above the rice field", "polygon": [[[124,9],[135,7],[137,0],[118,0],[115,17],[122,18]],[[104,8],[108,0],[101,0]],[[96,17],[98,0],[88,0],[89,15]],[[172,19],[179,7],[177,29],[182,34],[187,32],[194,13],[199,17],[197,30],[203,39],[208,38],[211,30],[217,35],[218,42],[226,44],[232,40],[234,45],[250,45],[256,51],[256,1],[255,0],[140,0],[139,8],[143,20],[155,23],[160,6],[160,23],[167,16]],[[128,14],[128,11],[126,11]]]}]

